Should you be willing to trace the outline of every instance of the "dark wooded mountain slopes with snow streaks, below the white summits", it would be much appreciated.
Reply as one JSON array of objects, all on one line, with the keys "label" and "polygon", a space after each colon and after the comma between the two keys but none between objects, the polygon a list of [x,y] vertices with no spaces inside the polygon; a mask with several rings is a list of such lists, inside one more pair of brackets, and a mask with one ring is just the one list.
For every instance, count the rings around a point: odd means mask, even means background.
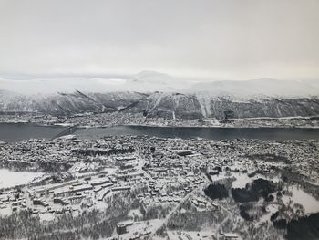
[{"label": "dark wooded mountain slopes with snow streaks, below the white summits", "polygon": [[32,111],[53,115],[123,111],[146,117],[200,119],[319,116],[319,98],[212,97],[207,92],[109,92],[21,95],[0,92],[0,111]]}]

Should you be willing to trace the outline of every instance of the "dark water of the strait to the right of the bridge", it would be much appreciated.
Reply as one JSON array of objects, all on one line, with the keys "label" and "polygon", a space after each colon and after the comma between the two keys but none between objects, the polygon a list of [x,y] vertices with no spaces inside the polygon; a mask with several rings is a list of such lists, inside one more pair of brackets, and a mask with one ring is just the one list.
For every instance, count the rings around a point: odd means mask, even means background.
[{"label": "dark water of the strait to the right of the bridge", "polygon": [[111,135],[149,135],[161,138],[179,137],[182,139],[200,137],[211,140],[235,138],[260,140],[319,140],[319,129],[119,126],[105,129],[81,129],[77,130],[76,135],[81,139],[96,139]]}]

